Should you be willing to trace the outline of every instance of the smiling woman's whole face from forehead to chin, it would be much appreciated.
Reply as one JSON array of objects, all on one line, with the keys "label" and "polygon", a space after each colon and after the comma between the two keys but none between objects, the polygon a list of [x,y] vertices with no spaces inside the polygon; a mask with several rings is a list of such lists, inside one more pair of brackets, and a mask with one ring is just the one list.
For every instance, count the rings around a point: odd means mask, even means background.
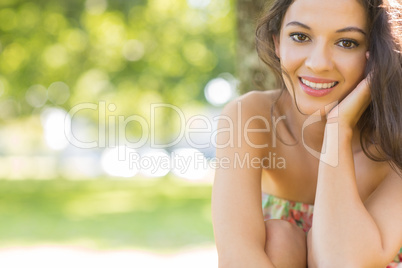
[{"label": "smiling woman's whole face from forehead to chin", "polygon": [[364,78],[366,18],[355,0],[295,0],[288,8],[276,54],[302,113],[341,101]]}]

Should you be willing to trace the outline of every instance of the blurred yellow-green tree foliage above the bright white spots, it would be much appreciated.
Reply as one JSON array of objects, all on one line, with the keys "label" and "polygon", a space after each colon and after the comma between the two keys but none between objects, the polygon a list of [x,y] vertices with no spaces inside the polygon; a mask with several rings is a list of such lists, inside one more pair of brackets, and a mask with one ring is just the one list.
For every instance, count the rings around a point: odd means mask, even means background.
[{"label": "blurred yellow-green tree foliage above the bright white spots", "polygon": [[[186,0],[2,0],[1,119],[99,100],[119,115],[144,115],[158,102],[202,105],[205,84],[234,72],[233,9],[232,0],[204,8]],[[66,102],[47,92],[55,82],[69,88]]]}]

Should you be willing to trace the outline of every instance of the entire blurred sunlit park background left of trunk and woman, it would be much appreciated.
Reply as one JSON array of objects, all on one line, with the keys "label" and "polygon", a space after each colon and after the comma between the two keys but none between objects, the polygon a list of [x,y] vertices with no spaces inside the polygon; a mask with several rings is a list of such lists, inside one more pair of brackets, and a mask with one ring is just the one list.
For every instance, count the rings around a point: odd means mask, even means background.
[{"label": "entire blurred sunlit park background left of trunk and woman", "polygon": [[232,0],[0,0],[1,266],[216,266],[234,50]]}]

